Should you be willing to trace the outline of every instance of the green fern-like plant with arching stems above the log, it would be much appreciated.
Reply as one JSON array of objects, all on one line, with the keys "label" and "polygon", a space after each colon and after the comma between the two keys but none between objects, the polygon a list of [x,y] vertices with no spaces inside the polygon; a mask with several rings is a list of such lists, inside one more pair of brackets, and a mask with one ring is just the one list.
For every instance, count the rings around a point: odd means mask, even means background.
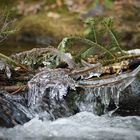
[{"label": "green fern-like plant with arching stems above the log", "polygon": [[112,18],[90,18],[85,23],[86,37],[64,38],[58,46],[61,51],[67,51],[73,43],[80,42],[86,47],[77,53],[76,58],[78,59],[88,57],[91,52],[94,55],[94,51],[97,49],[99,49],[98,54],[106,56],[107,59],[116,58],[116,52],[124,55],[114,33]]}]

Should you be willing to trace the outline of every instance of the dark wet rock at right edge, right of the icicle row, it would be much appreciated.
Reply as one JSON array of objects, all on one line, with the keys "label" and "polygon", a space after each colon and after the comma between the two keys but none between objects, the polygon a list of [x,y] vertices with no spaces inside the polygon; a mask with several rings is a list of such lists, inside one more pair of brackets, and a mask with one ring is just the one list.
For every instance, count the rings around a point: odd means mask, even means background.
[{"label": "dark wet rock at right edge, right of the icicle row", "polygon": [[118,114],[140,116],[140,78],[132,82],[121,94]]}]

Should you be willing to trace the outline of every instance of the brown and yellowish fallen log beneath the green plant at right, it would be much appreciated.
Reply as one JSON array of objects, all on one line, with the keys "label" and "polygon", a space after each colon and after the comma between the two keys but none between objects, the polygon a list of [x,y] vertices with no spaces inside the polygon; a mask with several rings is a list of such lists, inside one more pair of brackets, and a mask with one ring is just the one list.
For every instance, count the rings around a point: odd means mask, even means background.
[{"label": "brown and yellowish fallen log beneath the green plant at right", "polygon": [[[96,67],[89,67],[83,70],[74,70],[69,75],[72,77],[83,76],[88,77],[90,73],[98,73],[100,75],[119,74],[126,70],[134,70],[140,65],[140,58],[133,58],[121,61],[120,63],[110,64],[108,66],[97,65]],[[93,74],[93,75],[94,75]],[[83,78],[84,79],[84,78]]]}]

